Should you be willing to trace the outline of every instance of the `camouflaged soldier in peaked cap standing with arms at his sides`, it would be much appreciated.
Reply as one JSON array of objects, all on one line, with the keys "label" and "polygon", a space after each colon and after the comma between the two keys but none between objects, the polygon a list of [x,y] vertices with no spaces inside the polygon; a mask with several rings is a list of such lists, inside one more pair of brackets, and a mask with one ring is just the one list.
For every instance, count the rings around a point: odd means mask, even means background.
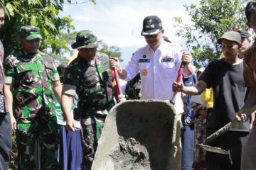
[{"label": "camouflaged soldier in peaked cap standing with arms at his sides", "polygon": [[6,101],[17,135],[18,169],[58,169],[53,91],[60,101],[62,86],[53,59],[39,51],[41,39],[39,28],[21,27],[18,40],[22,48],[4,61]]}]

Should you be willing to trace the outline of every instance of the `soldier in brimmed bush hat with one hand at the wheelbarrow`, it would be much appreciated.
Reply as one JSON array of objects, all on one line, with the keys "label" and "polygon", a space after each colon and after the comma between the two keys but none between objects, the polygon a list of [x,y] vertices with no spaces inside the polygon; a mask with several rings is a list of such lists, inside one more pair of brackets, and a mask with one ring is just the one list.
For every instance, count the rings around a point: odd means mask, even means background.
[{"label": "soldier in brimmed bush hat with one hand at the wheelbarrow", "polygon": [[[81,30],[77,34],[72,47],[78,49],[78,57],[66,69],[61,96],[66,128],[75,131],[78,127],[70,111],[73,96],[78,94],[74,118],[80,118],[82,125],[82,168],[87,170],[91,169],[106,115],[114,106],[112,88],[115,87],[115,81],[110,76],[109,58],[97,52],[97,44],[97,37],[90,30]],[[114,88],[117,100],[123,101],[124,96],[117,97],[116,91],[117,88]]]}]

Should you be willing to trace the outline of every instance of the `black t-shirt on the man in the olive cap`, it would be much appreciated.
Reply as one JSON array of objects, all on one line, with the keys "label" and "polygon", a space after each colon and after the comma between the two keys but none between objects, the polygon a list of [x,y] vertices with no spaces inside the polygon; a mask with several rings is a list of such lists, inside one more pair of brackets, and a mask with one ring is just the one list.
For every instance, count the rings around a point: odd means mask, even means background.
[{"label": "black t-shirt on the man in the olive cap", "polygon": [[[244,104],[245,81],[243,64],[230,65],[222,60],[210,62],[199,77],[207,87],[213,87],[213,113],[208,115],[207,128],[222,128],[235,119]],[[230,130],[249,131],[249,121]]]}]

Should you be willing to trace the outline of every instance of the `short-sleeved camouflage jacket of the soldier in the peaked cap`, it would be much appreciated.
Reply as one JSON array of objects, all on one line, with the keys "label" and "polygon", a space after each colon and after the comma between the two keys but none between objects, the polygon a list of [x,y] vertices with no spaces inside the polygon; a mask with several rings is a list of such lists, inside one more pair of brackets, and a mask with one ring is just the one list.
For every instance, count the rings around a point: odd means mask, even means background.
[{"label": "short-sleeved camouflage jacket of the soldier in the peaked cap", "polygon": [[55,114],[52,81],[60,79],[53,59],[37,52],[31,59],[22,52],[4,61],[6,84],[13,84],[14,115],[34,118]]}]

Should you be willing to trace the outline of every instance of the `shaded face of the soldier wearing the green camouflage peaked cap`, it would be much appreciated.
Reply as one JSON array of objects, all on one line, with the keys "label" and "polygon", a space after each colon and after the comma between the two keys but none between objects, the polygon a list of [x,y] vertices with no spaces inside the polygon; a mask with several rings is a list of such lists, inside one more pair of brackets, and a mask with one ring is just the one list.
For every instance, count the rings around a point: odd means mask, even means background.
[{"label": "shaded face of the soldier wearing the green camouflage peaked cap", "polygon": [[39,47],[41,45],[41,39],[36,38],[33,40],[27,40],[26,38],[20,38],[21,45],[23,47],[23,50],[25,50],[28,53],[36,53],[39,50]]}]

